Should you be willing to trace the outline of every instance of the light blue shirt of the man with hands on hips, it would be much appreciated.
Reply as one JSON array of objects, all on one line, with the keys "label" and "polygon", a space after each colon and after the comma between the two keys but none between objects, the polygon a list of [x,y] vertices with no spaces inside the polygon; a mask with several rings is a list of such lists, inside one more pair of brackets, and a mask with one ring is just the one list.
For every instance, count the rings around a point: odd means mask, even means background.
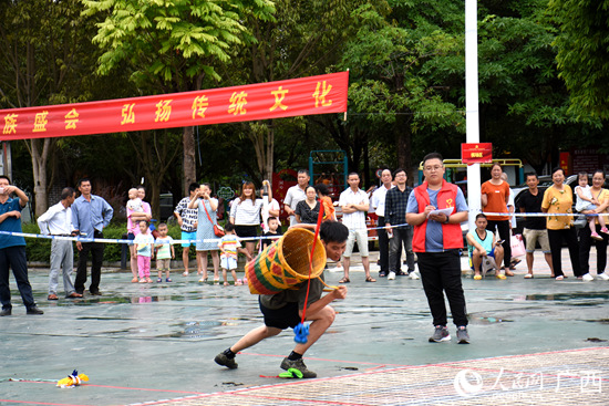
[{"label": "light blue shirt of the man with hands on hips", "polygon": [[113,214],[112,206],[100,196],[91,195],[91,201],[81,196],[72,204],[72,226],[82,237],[93,238],[94,230],[110,225]]}]

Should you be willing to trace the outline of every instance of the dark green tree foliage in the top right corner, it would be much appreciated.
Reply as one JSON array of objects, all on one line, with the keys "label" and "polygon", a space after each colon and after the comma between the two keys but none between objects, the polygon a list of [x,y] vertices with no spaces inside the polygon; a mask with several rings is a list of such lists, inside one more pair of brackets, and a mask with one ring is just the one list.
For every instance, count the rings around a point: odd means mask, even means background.
[{"label": "dark green tree foliage in the top right corner", "polygon": [[571,112],[609,118],[609,1],[550,0],[560,31],[554,41]]}]

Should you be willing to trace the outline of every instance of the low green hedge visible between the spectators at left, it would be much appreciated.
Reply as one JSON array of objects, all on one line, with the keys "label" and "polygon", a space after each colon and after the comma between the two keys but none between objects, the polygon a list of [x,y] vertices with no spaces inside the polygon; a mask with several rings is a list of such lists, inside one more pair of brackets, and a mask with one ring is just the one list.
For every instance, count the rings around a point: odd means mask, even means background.
[{"label": "low green hedge visible between the spectators at left", "polygon": [[[39,235],[40,229],[37,223],[23,223],[23,232]],[[104,229],[104,238],[109,239],[123,239],[125,235],[126,239],[127,227],[126,225],[113,225],[111,223],[107,228]],[[168,235],[175,239],[179,240],[182,238],[182,231],[177,225],[168,225]],[[45,238],[25,238],[25,253],[28,256],[28,261],[33,262],[49,262],[51,256],[51,240]],[[104,250],[104,261],[110,262],[120,262],[121,261],[121,243],[106,243]],[[182,259],[182,244],[174,246],[176,260]],[[79,251],[74,244],[74,262],[79,259]],[[192,249],[189,252],[189,258],[195,258],[195,250]]]}]

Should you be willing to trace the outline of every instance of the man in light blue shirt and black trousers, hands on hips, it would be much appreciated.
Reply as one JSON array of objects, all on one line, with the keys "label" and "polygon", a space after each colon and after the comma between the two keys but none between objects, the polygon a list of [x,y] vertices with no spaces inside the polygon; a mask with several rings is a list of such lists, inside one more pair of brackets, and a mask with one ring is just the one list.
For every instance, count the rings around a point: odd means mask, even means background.
[{"label": "man in light blue shirt and black trousers, hands on hips", "polygon": [[[91,180],[79,180],[81,196],[72,205],[73,233],[84,238],[104,238],[103,230],[110,225],[114,209],[102,197],[91,194]],[[102,261],[104,259],[104,244],[102,242],[76,241],[79,250],[79,264],[76,267],[76,280],[74,288],[76,293],[83,294],[86,282],[86,260],[91,252],[91,284],[89,293],[101,296],[100,280],[102,278]]]}]

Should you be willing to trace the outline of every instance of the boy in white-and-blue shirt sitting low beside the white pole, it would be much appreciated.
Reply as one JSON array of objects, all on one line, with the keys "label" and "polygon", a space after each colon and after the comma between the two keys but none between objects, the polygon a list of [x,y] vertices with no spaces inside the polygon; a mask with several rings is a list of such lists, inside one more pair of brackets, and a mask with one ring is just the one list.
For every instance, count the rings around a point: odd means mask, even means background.
[{"label": "boy in white-and-blue shirt sitting low beside the white pole", "polygon": [[[494,258],[495,263],[502,263],[504,259],[503,241],[495,241],[495,233],[486,230],[486,216],[482,212],[476,216],[476,229],[467,233],[467,251],[472,259],[474,280],[482,279],[481,268],[487,257]],[[486,272],[485,272],[486,273]],[[506,279],[499,270],[495,272],[497,279]]]}]

